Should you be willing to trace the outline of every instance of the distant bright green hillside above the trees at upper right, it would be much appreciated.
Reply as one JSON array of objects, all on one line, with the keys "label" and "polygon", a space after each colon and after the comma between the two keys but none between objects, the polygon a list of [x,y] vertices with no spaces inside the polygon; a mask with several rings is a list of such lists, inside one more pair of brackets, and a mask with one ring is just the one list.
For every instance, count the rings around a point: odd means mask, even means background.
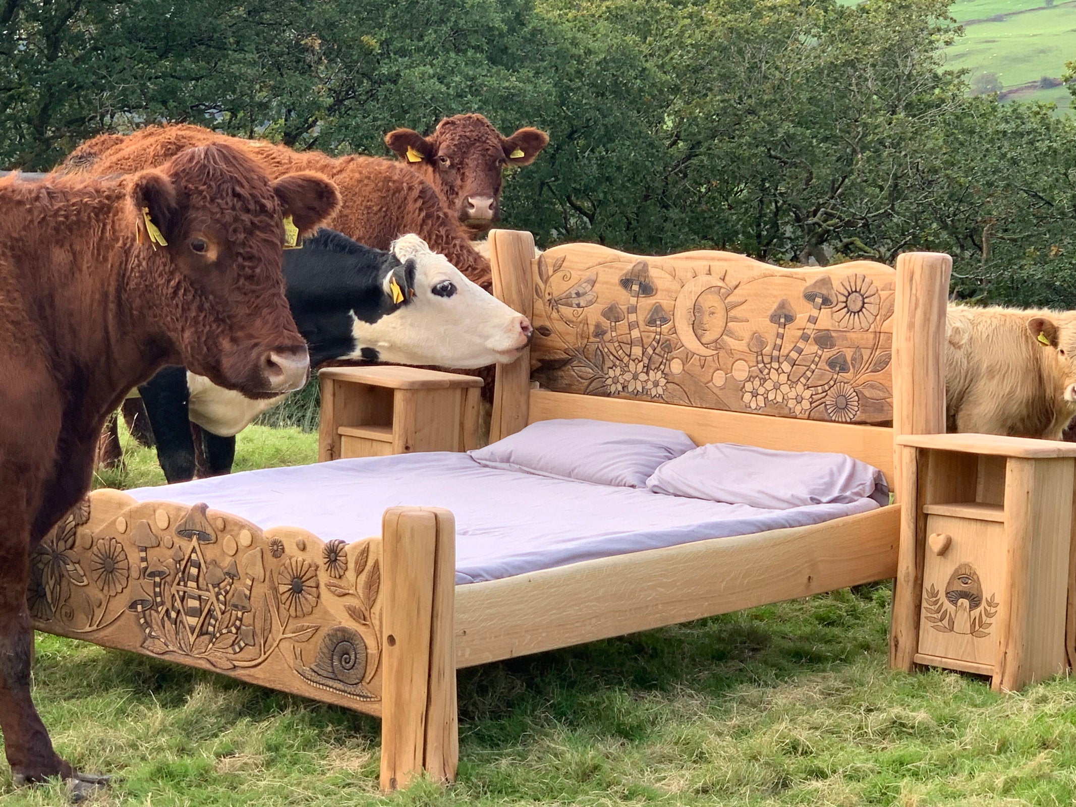
[{"label": "distant bright green hillside above the trees at upper right", "polygon": [[1042,80],[1060,79],[1065,61],[1076,59],[1076,0],[1051,8],[1044,0],[955,0],[951,13],[964,36],[948,51],[950,67],[966,69],[972,81],[996,74],[1004,99],[1068,107],[1067,89]]}]

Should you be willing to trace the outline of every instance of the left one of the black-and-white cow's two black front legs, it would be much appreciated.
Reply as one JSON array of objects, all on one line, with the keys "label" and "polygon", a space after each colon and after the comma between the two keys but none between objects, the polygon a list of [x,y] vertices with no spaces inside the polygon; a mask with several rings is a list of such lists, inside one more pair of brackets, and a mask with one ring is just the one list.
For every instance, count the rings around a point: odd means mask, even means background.
[{"label": "left one of the black-and-white cow's two black front legs", "polygon": [[187,371],[166,367],[139,387],[150,426],[157,438],[157,462],[169,482],[195,478],[195,442],[190,436]]}]

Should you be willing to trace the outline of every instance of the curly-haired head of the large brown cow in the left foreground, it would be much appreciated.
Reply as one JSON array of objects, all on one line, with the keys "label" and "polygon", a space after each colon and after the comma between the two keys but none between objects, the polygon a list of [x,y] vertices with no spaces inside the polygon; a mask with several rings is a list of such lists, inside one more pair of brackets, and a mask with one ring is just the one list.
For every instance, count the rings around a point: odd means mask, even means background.
[{"label": "curly-haired head of the large brown cow in the left foreground", "polygon": [[285,216],[298,237],[340,203],[313,173],[270,183],[236,148],[185,151],[129,184],[144,260],[132,299],[183,365],[252,398],[297,390],[309,371],[281,271]]}]

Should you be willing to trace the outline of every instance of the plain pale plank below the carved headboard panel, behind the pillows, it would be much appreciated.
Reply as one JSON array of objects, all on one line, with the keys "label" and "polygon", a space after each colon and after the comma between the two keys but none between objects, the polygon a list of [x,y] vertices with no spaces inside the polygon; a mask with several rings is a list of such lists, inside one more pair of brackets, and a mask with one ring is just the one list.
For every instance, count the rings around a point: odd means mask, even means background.
[{"label": "plain pale plank below the carved headboard panel, behind the pillows", "polygon": [[678,428],[696,443],[727,442],[781,451],[835,451],[862,459],[893,478],[893,430],[827,421],[803,421],[656,401],[603,398],[535,390],[528,423],[553,417],[589,417]]}]

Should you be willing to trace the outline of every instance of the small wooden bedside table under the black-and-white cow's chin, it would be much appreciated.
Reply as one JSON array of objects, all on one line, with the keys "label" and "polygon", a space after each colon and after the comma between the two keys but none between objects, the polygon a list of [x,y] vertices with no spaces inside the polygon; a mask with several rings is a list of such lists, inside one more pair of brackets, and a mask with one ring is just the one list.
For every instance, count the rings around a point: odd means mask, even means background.
[{"label": "small wooden bedside table under the black-and-white cow's chin", "polygon": [[482,379],[417,367],[327,367],[317,373],[317,459],[477,448]]}]

